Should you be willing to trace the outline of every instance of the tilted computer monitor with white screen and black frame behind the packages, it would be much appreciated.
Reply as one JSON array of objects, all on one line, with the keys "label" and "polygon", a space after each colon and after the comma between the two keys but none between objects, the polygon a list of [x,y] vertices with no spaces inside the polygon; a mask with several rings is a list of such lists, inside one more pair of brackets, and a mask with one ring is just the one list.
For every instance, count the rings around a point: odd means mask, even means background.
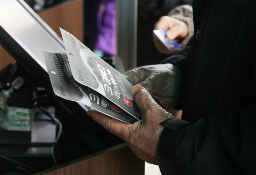
[{"label": "tilted computer monitor with white screen and black frame behind the packages", "polygon": [[72,116],[86,123],[86,106],[57,97],[41,50],[66,52],[62,39],[24,2],[0,0],[0,44]]}]

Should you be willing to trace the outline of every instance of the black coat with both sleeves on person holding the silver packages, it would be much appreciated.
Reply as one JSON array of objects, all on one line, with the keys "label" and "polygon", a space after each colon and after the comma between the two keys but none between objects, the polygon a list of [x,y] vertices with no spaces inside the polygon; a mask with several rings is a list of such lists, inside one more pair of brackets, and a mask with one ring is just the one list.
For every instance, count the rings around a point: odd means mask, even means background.
[{"label": "black coat with both sleeves on person holding the silver packages", "polygon": [[160,170],[256,174],[256,1],[194,0],[193,16],[192,46],[163,62],[186,90],[183,120],[161,123]]}]

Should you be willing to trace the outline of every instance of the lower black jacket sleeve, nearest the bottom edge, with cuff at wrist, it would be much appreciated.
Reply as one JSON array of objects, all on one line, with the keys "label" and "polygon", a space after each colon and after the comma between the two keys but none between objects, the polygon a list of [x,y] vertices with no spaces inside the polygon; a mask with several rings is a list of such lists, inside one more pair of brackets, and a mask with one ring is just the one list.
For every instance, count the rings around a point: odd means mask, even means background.
[{"label": "lower black jacket sleeve, nearest the bottom edge, with cuff at wrist", "polygon": [[[256,63],[255,63],[256,70]],[[256,74],[256,71],[255,71]],[[162,175],[256,173],[256,104],[192,124],[168,119],[159,143]]]}]

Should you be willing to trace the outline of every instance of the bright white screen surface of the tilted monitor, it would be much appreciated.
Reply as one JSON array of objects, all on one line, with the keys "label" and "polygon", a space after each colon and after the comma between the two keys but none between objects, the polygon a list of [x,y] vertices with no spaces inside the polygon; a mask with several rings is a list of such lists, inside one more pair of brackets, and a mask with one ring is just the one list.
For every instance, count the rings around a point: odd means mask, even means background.
[{"label": "bright white screen surface of the tilted monitor", "polygon": [[44,70],[42,49],[66,52],[62,39],[22,0],[0,0],[0,26]]}]

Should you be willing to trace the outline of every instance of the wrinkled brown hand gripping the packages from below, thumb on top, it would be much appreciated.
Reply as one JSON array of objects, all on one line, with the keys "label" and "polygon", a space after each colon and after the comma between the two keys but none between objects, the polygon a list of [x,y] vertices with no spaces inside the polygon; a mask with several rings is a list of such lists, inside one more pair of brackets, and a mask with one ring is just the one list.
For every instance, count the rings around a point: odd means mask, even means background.
[{"label": "wrinkled brown hand gripping the packages from below, thumb on top", "polygon": [[159,123],[173,116],[161,108],[142,86],[135,85],[132,94],[141,111],[141,121],[125,124],[96,110],[88,110],[87,114],[106,130],[122,138],[140,159],[158,165],[158,144],[164,128]]}]

